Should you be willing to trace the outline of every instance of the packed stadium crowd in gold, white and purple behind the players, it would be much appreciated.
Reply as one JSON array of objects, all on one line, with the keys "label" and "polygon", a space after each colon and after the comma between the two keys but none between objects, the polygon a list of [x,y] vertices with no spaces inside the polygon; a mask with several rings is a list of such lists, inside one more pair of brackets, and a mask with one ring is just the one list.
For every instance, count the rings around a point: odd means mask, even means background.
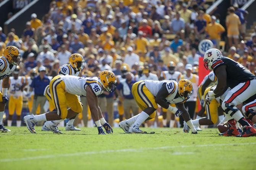
[{"label": "packed stadium crowd in gold, white and purple behind the players", "polygon": [[[37,74],[45,71],[54,77],[73,53],[81,54],[86,62],[82,76],[112,70],[127,83],[118,81],[115,94],[105,92],[99,97],[100,108],[111,126],[139,112],[129,90],[132,84],[143,79],[164,79],[162,71],[169,71],[172,62],[183,77],[195,84],[194,96],[185,104],[195,118],[201,40],[209,39],[220,48],[222,33],[227,32],[228,50],[222,52],[252,73],[256,64],[256,28],[251,40],[245,41],[248,12],[234,4],[228,8],[226,25],[221,25],[220,16],[210,16],[205,7],[205,0],[55,0],[42,20],[36,13],[31,14],[21,37],[15,29],[5,35],[0,27],[0,55],[6,46],[18,47],[22,56],[20,76],[25,77],[30,76],[33,68]],[[81,102],[83,114],[76,124],[87,126],[90,116],[85,97],[81,97]],[[116,111],[119,116],[114,114]],[[160,108],[158,114],[158,120],[149,122],[149,126],[163,126],[159,123]],[[170,114],[167,119],[170,120]],[[182,122],[176,121],[172,127],[182,126]]]}]

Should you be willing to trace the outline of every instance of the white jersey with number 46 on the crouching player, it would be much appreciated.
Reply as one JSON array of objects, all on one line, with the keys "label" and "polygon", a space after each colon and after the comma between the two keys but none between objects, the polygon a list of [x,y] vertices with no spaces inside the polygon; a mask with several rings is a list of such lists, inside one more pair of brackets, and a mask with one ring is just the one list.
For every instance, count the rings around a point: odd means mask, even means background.
[{"label": "white jersey with number 46 on the crouching player", "polygon": [[65,83],[65,90],[70,94],[83,95],[86,97],[86,87],[90,86],[95,96],[103,93],[100,79],[97,77],[78,77],[70,75],[61,75],[61,79]]}]

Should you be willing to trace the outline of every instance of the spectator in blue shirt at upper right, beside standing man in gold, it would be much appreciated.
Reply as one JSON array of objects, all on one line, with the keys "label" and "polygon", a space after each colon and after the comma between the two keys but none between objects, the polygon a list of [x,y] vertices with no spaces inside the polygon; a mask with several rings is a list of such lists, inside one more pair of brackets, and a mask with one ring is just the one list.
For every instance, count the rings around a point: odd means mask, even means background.
[{"label": "spectator in blue shirt at upper right, beside standing man in gold", "polygon": [[234,3],[233,7],[235,9],[235,14],[237,14],[237,16],[240,19],[240,22],[241,22],[240,33],[241,33],[241,35],[243,37],[243,40],[244,40],[245,39],[245,33],[246,33],[246,18],[247,18],[249,13],[246,10],[238,8],[237,3]]}]

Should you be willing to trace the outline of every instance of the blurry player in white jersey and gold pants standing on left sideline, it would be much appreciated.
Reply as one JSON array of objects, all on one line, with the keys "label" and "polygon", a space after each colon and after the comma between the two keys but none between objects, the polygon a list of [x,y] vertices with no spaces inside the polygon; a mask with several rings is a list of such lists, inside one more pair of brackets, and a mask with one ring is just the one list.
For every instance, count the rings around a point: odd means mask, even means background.
[{"label": "blurry player in white jersey and gold pants standing on left sideline", "polygon": [[19,76],[19,66],[15,68],[9,79],[9,116],[7,120],[7,126],[11,126],[13,120],[13,114],[16,112],[17,121],[16,126],[21,126],[21,111],[23,105],[23,88],[26,86],[26,81],[23,76]]}]

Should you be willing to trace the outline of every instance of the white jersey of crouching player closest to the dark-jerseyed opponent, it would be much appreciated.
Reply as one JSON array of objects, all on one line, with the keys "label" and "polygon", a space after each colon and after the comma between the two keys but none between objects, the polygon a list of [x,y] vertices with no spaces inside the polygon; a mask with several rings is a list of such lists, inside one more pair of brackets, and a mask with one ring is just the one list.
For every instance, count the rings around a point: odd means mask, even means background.
[{"label": "white jersey of crouching player closest to the dark-jerseyed opponent", "polygon": [[165,101],[169,104],[171,103],[181,103],[184,102],[184,100],[178,95],[178,97],[175,99],[177,93],[178,93],[178,83],[173,80],[163,80],[163,81],[152,81],[152,80],[144,80],[145,85],[147,89],[156,97],[157,93],[162,88],[163,84],[166,83],[165,87],[169,93],[169,95],[165,98]]}]

